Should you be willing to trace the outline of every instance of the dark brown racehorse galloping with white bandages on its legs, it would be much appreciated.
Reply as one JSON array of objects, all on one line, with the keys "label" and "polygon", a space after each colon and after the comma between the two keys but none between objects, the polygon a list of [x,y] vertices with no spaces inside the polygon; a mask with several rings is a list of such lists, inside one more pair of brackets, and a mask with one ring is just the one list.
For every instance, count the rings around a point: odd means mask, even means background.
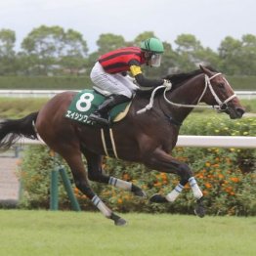
[{"label": "dark brown racehorse galloping with white bandages on its legs", "polygon": [[[105,129],[110,132],[115,157],[143,163],[150,169],[180,177],[180,184],[173,191],[166,195],[154,194],[150,197],[151,202],[173,202],[184,186],[190,183],[195,198],[195,213],[203,217],[203,194],[191,168],[175,159],[170,152],[177,143],[180,126],[194,107],[215,107],[232,119],[240,118],[244,108],[224,75],[212,68],[200,66],[189,73],[168,75],[166,79],[172,82],[172,89],[154,89],[150,103],[149,97],[136,94],[124,119]],[[21,137],[41,138],[50,149],[64,157],[75,186],[115,225],[124,225],[126,221],[92,191],[88,179],[134,192],[138,196],[146,196],[146,193],[130,182],[104,173],[102,161],[107,149],[101,127],[84,125],[64,117],[76,94],[58,94],[37,112],[21,119],[3,120],[0,123],[0,149],[9,149]],[[82,154],[87,159],[88,174]]]}]

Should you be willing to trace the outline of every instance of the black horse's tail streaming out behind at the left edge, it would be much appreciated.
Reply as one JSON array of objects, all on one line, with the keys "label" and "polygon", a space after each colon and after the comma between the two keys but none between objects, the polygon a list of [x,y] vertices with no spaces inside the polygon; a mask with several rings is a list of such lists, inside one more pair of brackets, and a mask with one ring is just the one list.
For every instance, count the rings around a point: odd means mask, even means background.
[{"label": "black horse's tail streaming out behind at the left edge", "polygon": [[22,137],[36,140],[34,123],[38,112],[32,112],[21,119],[0,121],[0,149],[7,150]]}]

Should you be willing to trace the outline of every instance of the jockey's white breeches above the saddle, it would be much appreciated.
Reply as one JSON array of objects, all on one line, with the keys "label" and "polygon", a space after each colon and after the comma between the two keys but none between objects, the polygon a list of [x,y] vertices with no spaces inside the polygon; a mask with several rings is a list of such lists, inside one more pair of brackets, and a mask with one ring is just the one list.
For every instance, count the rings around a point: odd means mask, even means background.
[{"label": "jockey's white breeches above the saddle", "polygon": [[106,96],[116,94],[132,98],[138,89],[129,75],[107,73],[99,62],[94,65],[90,77],[95,84],[94,88]]}]

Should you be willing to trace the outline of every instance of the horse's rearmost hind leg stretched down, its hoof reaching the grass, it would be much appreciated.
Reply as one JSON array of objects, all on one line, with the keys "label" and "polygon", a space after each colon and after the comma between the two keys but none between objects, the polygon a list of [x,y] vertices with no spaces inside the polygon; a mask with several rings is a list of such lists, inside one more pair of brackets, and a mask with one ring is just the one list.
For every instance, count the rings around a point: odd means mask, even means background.
[{"label": "horse's rearmost hind leg stretched down, its hoof reaching the grass", "polygon": [[80,149],[78,149],[78,147],[65,145],[61,149],[59,147],[58,152],[64,157],[65,161],[69,165],[77,189],[80,192],[83,192],[108,219],[113,220],[115,225],[125,225],[126,221],[114,214],[101,200],[101,198],[90,188]]}]

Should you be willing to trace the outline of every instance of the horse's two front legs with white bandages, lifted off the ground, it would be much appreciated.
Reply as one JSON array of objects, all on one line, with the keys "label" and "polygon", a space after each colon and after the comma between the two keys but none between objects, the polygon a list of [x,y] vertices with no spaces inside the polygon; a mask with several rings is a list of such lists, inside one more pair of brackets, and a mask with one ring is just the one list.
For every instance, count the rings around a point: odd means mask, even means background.
[{"label": "horse's two front legs with white bandages, lifted off the ground", "polygon": [[188,166],[188,164],[176,160],[170,154],[166,153],[161,149],[155,149],[150,157],[146,158],[146,164],[152,169],[166,173],[174,173],[181,177],[180,184],[177,185],[172,192],[169,192],[166,196],[162,196],[161,194],[154,194],[150,198],[150,201],[173,202],[183,191],[184,186],[189,182],[192,187],[193,196],[195,197],[197,202],[195,213],[200,217],[204,216],[204,210],[202,205],[203,194],[199,189],[196,180],[192,175],[192,170]]}]

